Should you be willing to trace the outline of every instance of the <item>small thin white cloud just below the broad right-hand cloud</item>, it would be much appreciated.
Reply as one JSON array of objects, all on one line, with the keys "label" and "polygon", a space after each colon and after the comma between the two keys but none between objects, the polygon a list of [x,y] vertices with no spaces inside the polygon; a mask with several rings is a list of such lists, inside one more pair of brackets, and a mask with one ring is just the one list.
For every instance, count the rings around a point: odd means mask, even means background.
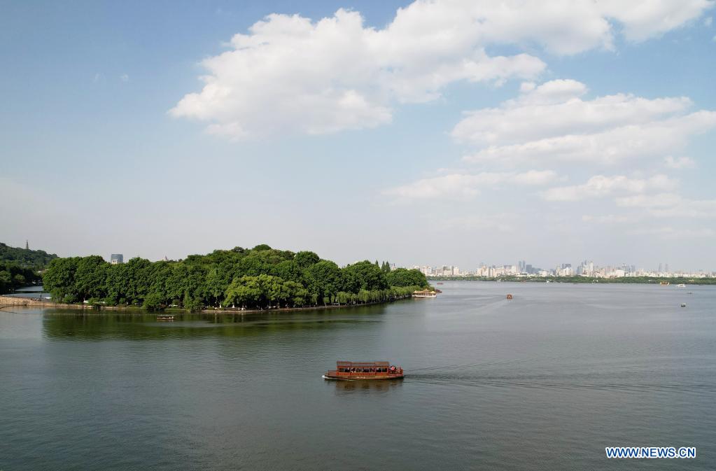
[{"label": "small thin white cloud just below the broad right-hand cloud", "polygon": [[582,185],[549,188],[541,193],[548,201],[579,201],[585,198],[600,198],[614,193],[644,193],[647,190],[670,190],[677,181],[666,175],[654,175],[648,179],[627,178],[624,175],[606,177],[596,175]]}]

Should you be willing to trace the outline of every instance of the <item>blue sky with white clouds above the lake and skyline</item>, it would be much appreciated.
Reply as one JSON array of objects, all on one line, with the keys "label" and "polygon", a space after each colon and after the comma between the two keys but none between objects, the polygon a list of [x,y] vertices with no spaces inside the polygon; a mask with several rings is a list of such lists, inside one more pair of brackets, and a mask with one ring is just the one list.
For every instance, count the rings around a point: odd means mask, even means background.
[{"label": "blue sky with white clouds above the lake and skyline", "polygon": [[0,1],[0,241],[716,271],[713,1]]}]

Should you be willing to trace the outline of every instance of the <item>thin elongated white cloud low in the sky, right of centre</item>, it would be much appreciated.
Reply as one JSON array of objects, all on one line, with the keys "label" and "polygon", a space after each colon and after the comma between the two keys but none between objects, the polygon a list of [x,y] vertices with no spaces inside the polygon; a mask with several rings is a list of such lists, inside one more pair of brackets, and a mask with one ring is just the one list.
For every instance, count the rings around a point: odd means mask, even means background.
[{"label": "thin elongated white cloud low in the sky, right of centre", "polygon": [[433,198],[468,200],[479,195],[483,188],[495,188],[498,185],[546,185],[558,179],[558,175],[552,170],[529,170],[524,173],[451,173],[391,188],[384,194],[395,196],[400,200]]}]

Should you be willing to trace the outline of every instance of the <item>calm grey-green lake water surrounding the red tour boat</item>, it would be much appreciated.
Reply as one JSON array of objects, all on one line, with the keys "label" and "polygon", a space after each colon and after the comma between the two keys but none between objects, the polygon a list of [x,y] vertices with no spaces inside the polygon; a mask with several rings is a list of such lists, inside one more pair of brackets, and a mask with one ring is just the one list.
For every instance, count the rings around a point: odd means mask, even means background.
[{"label": "calm grey-green lake water surrounding the red tour boat", "polygon": [[[173,323],[3,309],[0,469],[716,467],[716,288],[440,288]],[[409,376],[321,379],[337,359],[385,359]],[[697,457],[607,460],[613,445]]]}]

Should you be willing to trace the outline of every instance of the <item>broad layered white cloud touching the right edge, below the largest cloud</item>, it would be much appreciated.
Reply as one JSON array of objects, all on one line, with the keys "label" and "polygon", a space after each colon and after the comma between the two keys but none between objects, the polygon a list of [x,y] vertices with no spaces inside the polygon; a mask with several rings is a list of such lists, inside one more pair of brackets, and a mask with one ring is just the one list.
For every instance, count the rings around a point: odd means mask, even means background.
[{"label": "broad layered white cloud touching the right edge, below the largest cloud", "polygon": [[682,149],[692,135],[716,127],[716,112],[687,112],[687,97],[585,100],[585,92],[584,84],[569,79],[523,84],[517,99],[466,113],[452,135],[482,147],[464,157],[472,162],[614,164]]}]

